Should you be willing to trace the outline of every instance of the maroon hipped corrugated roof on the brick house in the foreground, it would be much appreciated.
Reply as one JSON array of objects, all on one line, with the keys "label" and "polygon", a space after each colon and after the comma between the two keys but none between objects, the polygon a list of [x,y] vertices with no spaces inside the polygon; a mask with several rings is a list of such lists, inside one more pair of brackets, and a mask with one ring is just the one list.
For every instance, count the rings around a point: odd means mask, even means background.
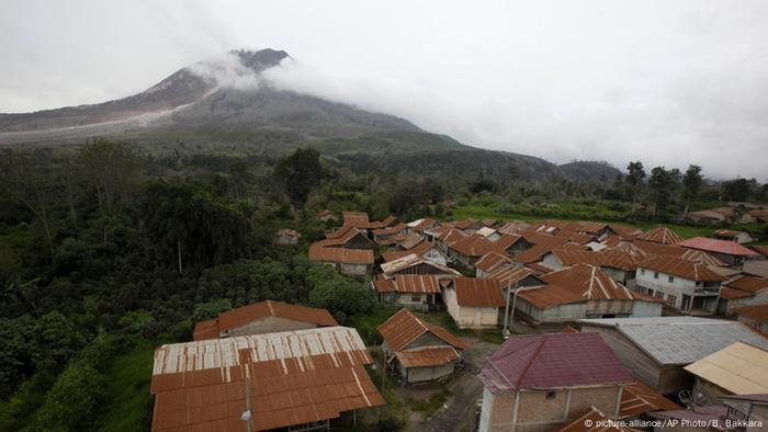
[{"label": "maroon hipped corrugated roof on the brick house in the foreground", "polygon": [[492,391],[630,384],[634,379],[599,333],[515,336],[489,359],[481,379]]}]

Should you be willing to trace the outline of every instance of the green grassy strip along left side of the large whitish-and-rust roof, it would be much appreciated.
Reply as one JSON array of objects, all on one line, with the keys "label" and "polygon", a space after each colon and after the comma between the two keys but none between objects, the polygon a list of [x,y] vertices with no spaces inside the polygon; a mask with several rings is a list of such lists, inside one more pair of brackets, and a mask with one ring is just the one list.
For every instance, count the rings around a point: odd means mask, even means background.
[{"label": "green grassy strip along left side of the large whitish-and-rust roof", "polygon": [[146,431],[151,424],[149,380],[155,346],[142,341],[118,354],[104,371],[108,379],[102,416],[95,422],[100,431]]}]

